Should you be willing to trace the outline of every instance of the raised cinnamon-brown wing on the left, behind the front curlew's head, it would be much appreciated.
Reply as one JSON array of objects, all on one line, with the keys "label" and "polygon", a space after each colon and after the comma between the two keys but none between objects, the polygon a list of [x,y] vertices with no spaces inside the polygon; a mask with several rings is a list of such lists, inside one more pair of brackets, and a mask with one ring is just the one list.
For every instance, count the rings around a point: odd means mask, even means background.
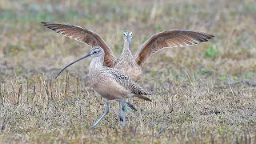
[{"label": "raised cinnamon-brown wing on the left, behind the front curlew's head", "polygon": [[116,59],[113,51],[107,46],[106,42],[95,32],[84,29],[80,26],[72,26],[60,23],[42,22],[43,26],[63,34],[68,38],[73,38],[79,42],[84,42],[90,46],[101,46],[105,52],[104,63],[108,67],[114,66]]}]

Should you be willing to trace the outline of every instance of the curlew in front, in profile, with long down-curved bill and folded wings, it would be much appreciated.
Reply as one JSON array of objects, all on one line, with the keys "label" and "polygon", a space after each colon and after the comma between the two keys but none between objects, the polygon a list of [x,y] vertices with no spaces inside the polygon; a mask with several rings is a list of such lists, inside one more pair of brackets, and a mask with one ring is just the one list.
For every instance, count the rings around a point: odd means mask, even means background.
[{"label": "curlew in front, in profile, with long down-curved bill and folded wings", "polygon": [[[68,66],[71,66],[75,62],[78,62],[84,58],[92,58],[89,67],[89,73],[91,78],[90,82],[92,83],[94,90],[98,94],[102,95],[102,98],[106,99],[106,112],[91,127],[91,129],[93,130],[96,126],[98,126],[98,123],[106,117],[106,114],[110,112],[109,102],[111,100],[117,100],[121,102],[122,107],[124,107],[124,104],[126,103],[125,101],[123,101],[123,99],[125,98],[138,97],[151,102],[150,98],[147,98],[145,96],[151,95],[150,92],[144,90],[141,86],[138,85],[138,83],[134,82],[134,80],[130,78],[127,74],[122,73],[122,71],[118,69],[103,66],[104,56],[104,50],[100,46],[94,46],[92,50],[90,50],[89,54],[82,58],[79,58],[74,62],[71,62],[58,73],[58,75],[61,74],[62,71],[65,70]],[[122,110],[122,107],[120,107],[120,112],[123,111],[122,126],[126,126],[126,114],[125,110]]]}]

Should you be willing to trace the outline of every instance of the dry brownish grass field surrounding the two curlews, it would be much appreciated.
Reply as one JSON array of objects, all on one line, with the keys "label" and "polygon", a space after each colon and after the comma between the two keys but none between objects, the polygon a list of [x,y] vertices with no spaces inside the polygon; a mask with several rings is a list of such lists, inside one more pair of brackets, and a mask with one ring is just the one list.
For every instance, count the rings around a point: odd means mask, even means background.
[{"label": "dry brownish grass field surrounding the two curlews", "polygon": [[[165,49],[148,58],[138,82],[153,102],[118,102],[94,131],[104,100],[90,88],[90,46],[40,22],[85,27],[114,54],[133,31],[132,51],[170,29],[213,34],[210,42]],[[255,143],[256,2],[254,0],[0,0],[0,143]]]}]

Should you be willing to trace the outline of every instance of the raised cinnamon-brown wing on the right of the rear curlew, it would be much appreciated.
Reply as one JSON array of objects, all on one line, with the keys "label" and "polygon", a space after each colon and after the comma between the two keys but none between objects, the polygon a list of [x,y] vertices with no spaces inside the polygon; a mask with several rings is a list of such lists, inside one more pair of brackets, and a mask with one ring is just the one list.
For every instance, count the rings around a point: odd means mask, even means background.
[{"label": "raised cinnamon-brown wing on the right of the rear curlew", "polygon": [[151,54],[162,48],[183,47],[206,42],[214,36],[190,30],[168,30],[152,35],[135,54],[139,66],[146,61]]}]

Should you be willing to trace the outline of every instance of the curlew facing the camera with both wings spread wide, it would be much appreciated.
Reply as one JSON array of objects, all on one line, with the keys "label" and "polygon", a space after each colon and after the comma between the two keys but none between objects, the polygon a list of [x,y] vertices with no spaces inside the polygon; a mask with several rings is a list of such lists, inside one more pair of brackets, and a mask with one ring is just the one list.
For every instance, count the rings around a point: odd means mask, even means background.
[{"label": "curlew facing the camera with both wings spread wide", "polygon": [[[142,64],[151,54],[156,53],[163,48],[184,47],[196,45],[200,42],[207,42],[214,36],[191,30],[167,30],[157,34],[153,34],[140,47],[135,56],[131,53],[131,38],[132,32],[126,30],[123,34],[124,45],[120,58],[114,56],[110,46],[99,36],[99,34],[84,29],[80,26],[72,26],[60,23],[42,22],[47,28],[56,31],[58,34],[63,34],[66,37],[74,38],[79,42],[85,42],[90,46],[101,46],[105,52],[105,66],[114,67],[122,71],[134,81],[142,75]],[[121,104],[120,104],[121,105]],[[130,106],[132,106],[130,104]],[[134,107],[134,106],[133,106]]]}]

